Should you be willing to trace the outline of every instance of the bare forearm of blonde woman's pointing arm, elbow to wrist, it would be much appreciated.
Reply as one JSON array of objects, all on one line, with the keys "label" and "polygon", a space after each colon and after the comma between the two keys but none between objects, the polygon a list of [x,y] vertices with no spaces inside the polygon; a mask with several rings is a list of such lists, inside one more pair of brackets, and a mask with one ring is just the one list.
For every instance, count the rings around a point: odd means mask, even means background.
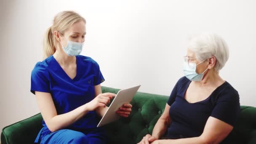
[{"label": "bare forearm of blonde woman's pointing arm, elbow to wrist", "polygon": [[82,105],[70,112],[67,112],[65,114],[56,115],[52,117],[51,119],[48,119],[46,125],[49,128],[51,132],[58,131],[62,128],[66,128],[72,123],[75,123],[77,120],[79,120],[81,117],[86,115],[88,113],[88,110],[86,108],[86,105]]}]

